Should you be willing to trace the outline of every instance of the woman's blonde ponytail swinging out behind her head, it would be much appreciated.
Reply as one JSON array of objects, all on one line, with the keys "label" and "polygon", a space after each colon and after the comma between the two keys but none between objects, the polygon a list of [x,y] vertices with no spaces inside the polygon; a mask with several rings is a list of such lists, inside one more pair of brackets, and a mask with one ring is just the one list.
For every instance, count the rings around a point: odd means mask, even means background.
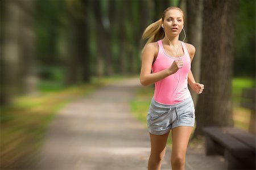
[{"label": "woman's blonde ponytail swinging out behind her head", "polygon": [[[164,31],[161,27],[162,25],[162,18],[157,20],[156,22],[148,25],[148,27],[144,30],[142,39],[148,39],[145,46],[150,42],[156,42],[158,40],[162,40],[164,38]],[[144,50],[143,48],[143,50]],[[142,50],[142,52],[143,52]]]}]

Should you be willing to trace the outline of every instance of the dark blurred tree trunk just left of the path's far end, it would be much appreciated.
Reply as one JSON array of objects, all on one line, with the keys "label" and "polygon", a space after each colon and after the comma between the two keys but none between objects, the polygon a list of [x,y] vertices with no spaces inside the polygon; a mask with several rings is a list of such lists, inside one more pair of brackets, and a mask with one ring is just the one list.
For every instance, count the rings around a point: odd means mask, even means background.
[{"label": "dark blurred tree trunk just left of the path's far end", "polygon": [[[75,10],[76,3],[80,4],[79,10]],[[89,57],[89,36],[88,36],[88,1],[76,0],[71,3],[69,11],[70,28],[68,57],[67,84],[89,82],[90,80],[90,57]]]}]

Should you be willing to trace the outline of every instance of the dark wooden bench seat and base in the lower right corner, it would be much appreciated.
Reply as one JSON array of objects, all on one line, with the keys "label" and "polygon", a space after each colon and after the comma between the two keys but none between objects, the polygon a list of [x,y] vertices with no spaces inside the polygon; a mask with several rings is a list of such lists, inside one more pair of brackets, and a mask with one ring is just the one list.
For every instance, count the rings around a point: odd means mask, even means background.
[{"label": "dark wooden bench seat and base in the lower right corner", "polygon": [[255,135],[237,128],[203,128],[206,155],[223,155],[227,169],[255,169]]}]

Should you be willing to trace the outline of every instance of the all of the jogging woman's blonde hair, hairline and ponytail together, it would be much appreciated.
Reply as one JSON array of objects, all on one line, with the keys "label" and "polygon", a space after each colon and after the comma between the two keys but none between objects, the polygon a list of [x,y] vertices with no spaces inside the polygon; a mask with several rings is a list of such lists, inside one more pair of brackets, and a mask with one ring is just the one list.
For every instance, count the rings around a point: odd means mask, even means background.
[{"label": "all of the jogging woman's blonde hair, hairline and ponytail together", "polygon": [[[164,18],[166,18],[166,12],[169,10],[179,10],[183,16],[183,20],[184,20],[184,14],[183,11],[181,10],[181,8],[179,7],[175,7],[175,6],[170,6],[168,8],[166,8],[166,10],[163,11],[162,14],[162,18],[160,18],[159,20],[157,20],[156,22],[148,25],[148,27],[144,30],[143,34],[142,34],[142,39],[148,39],[145,46],[150,43],[150,42],[156,42],[158,40],[162,40],[164,38],[164,30],[161,27],[161,25],[163,24]],[[145,48],[144,46],[144,48]],[[143,48],[143,50],[144,50]],[[142,52],[143,52],[142,50]]]}]

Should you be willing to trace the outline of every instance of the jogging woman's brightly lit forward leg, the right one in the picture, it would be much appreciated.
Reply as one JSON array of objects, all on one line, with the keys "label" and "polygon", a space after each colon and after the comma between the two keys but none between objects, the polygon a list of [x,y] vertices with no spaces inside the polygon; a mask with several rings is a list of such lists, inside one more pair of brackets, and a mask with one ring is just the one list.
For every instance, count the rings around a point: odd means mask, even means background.
[{"label": "jogging woman's brightly lit forward leg, the right one in the picture", "polygon": [[192,129],[191,126],[178,126],[172,129],[172,170],[185,169],[185,155]]}]

